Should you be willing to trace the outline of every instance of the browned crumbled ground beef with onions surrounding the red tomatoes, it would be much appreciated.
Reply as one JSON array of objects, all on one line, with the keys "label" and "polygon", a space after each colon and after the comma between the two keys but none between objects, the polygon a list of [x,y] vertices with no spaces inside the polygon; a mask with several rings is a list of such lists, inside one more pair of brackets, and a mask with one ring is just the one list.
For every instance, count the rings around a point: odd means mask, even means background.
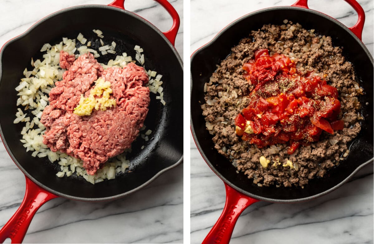
[{"label": "browned crumbled ground beef with onions surrounding the red tomatoes", "polygon": [[[295,61],[301,75],[314,70],[329,85],[338,88],[344,129],[334,135],[322,132],[320,141],[300,146],[292,155],[287,154],[286,144],[276,144],[258,149],[235,134],[234,120],[248,105],[248,94],[254,86],[243,77],[242,65],[253,59],[258,49],[268,49],[269,54],[284,54]],[[240,40],[232,53],[222,61],[206,84],[206,103],[202,105],[206,126],[214,135],[218,152],[253,179],[258,186],[303,187],[314,177],[323,177],[329,168],[338,165],[347,156],[348,143],[359,133],[361,104],[358,95],[362,88],[356,82],[353,66],[342,56],[342,48],[332,45],[331,37],[319,36],[314,30],[305,30],[300,24],[264,25],[252,31],[248,38]],[[259,158],[265,156],[271,162],[263,168]],[[289,160],[298,164],[298,170],[283,167]],[[273,164],[275,166],[273,166]]]}]

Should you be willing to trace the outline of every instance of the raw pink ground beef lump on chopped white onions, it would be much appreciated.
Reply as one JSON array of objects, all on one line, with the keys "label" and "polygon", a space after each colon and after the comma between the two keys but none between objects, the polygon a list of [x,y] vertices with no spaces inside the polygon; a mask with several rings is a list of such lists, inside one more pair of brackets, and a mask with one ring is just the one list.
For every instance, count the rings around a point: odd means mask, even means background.
[{"label": "raw pink ground beef lump on chopped white onions", "polygon": [[[51,89],[50,104],[40,120],[46,126],[43,143],[53,152],[82,159],[87,173],[95,174],[108,158],[131,147],[143,126],[150,103],[150,91],[143,86],[148,75],[134,63],[104,70],[90,53],[75,60],[61,51],[60,66],[67,70]],[[111,83],[110,98],[116,99],[117,106],[93,110],[90,116],[74,114],[80,95],[88,97],[99,77]]]}]

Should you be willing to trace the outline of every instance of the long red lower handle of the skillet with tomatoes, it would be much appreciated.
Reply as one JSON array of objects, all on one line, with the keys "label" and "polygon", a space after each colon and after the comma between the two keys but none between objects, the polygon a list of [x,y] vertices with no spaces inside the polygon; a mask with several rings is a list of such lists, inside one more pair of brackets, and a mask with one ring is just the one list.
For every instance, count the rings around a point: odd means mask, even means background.
[{"label": "long red lower handle of the skillet with tomatoes", "polygon": [[240,214],[252,203],[260,200],[244,195],[225,183],[226,204],[220,218],[205,237],[202,244],[228,244]]}]

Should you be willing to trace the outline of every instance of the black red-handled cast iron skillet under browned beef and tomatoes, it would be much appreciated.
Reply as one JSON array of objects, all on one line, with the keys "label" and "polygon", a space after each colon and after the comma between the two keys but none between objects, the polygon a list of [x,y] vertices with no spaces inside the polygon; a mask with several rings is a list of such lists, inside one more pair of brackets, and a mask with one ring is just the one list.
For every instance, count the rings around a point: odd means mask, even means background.
[{"label": "black red-handled cast iron skillet under browned beef and tomatoes", "polygon": [[[307,0],[299,0],[291,7],[273,7],[259,10],[237,19],[222,30],[211,42],[191,56],[191,131],[196,145],[211,169],[224,181],[226,205],[223,213],[203,243],[229,243],[234,225],[240,213],[259,200],[269,202],[307,201],[337,189],[347,182],[359,169],[373,161],[373,57],[361,42],[364,26],[364,10],[355,0],[346,0],[358,12],[358,22],[351,28],[323,13],[310,10]],[[361,80],[365,95],[361,96],[361,132],[350,146],[350,154],[326,177],[310,180],[300,187],[258,187],[214,149],[212,136],[205,127],[200,105],[204,101],[203,86],[230,53],[239,40],[249,31],[258,30],[264,24],[283,24],[283,20],[300,23],[305,29],[331,36],[335,46],[342,46],[344,56],[353,63]],[[366,104],[368,102],[368,105]],[[330,176],[331,174],[331,176]]]}]

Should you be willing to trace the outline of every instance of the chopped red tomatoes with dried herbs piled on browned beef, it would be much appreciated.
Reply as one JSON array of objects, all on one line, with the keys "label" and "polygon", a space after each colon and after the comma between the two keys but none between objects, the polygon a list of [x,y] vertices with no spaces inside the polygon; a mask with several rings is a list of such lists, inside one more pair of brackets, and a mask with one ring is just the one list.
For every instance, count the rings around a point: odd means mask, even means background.
[{"label": "chopped red tomatoes with dried herbs piled on browned beef", "polygon": [[235,119],[236,134],[243,140],[259,148],[288,144],[292,154],[300,144],[318,141],[322,131],[343,129],[343,121],[337,120],[337,88],[312,73],[301,76],[287,56],[258,50],[243,69],[255,85],[248,106]]}]

